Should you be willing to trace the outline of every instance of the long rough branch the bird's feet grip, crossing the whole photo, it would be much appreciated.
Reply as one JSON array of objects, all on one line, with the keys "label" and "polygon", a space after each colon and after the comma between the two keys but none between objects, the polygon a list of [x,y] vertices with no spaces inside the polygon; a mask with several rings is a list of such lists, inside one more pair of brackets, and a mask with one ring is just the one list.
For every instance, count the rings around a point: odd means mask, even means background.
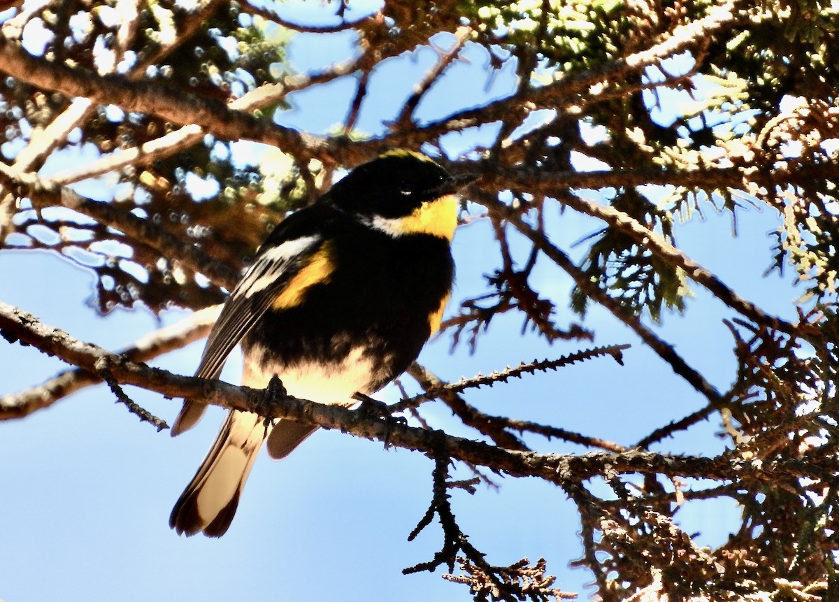
[{"label": "long rough branch the bird's feet grip, crossing the whole photo", "polygon": [[[117,382],[143,387],[165,397],[190,397],[216,406],[260,413],[266,418],[290,418],[301,423],[320,424],[324,428],[336,428],[404,449],[431,455],[446,454],[451,459],[487,466],[515,477],[535,476],[563,487],[575,486],[597,475],[623,473],[709,480],[757,480],[778,485],[784,480],[798,480],[800,477],[831,481],[839,472],[839,459],[818,454],[760,462],[740,458],[737,449],[715,458],[639,450],[622,454],[583,455],[519,452],[454,437],[442,431],[409,427],[345,407],[281,397],[279,392],[275,392],[274,398],[266,404],[264,391],[150,368],[76,340],[64,330],[41,324],[34,315],[2,302],[0,334],[10,342],[19,340],[33,345],[48,355],[55,355],[87,371],[96,371],[97,362],[107,361]],[[266,411],[266,407],[270,410]]]}]

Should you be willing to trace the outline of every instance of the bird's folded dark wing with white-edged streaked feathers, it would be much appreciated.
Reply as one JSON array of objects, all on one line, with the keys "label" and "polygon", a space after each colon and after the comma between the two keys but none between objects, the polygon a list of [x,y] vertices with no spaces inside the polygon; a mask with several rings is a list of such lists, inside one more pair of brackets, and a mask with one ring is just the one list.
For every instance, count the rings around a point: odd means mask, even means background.
[{"label": "bird's folded dark wing with white-edged streaked feathers", "polygon": [[[315,205],[289,215],[263,243],[251,267],[227,298],[213,325],[195,376],[217,378],[227,356],[268,310],[277,295],[294,278],[324,241],[323,228],[335,210]],[[172,425],[173,437],[201,420],[206,404],[184,401]]]}]

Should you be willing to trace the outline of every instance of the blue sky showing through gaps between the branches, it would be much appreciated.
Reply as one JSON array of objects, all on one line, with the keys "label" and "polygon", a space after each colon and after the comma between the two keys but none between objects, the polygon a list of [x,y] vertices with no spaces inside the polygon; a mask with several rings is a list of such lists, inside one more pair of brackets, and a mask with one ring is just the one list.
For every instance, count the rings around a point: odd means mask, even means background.
[{"label": "blue sky showing through gaps between the branches", "polygon": [[[321,12],[332,9],[323,3],[282,6],[289,18],[300,7],[309,13],[316,13],[317,7]],[[309,13],[305,18],[314,19]],[[437,41],[448,45],[446,36]],[[336,34],[333,44],[300,35],[292,43],[289,59],[300,70],[326,66],[352,52],[351,43],[352,34]],[[512,70],[502,70],[487,87],[486,54],[476,46],[467,47],[465,54],[468,61],[455,65],[446,82],[430,91],[418,117],[445,116],[513,90]],[[383,65],[371,78],[373,100],[362,110],[359,129],[380,133],[381,122],[393,117],[394,107],[433,60],[435,54],[425,49]],[[327,132],[343,119],[354,85],[347,77],[296,95],[280,121]],[[468,148],[490,130],[453,136],[446,149]],[[565,246],[599,227],[597,221],[571,211],[560,215],[551,209],[547,221],[551,236]],[[709,209],[706,220],[695,218],[677,226],[676,236],[690,257],[737,293],[769,312],[790,316],[795,291],[789,277],[762,277],[769,265],[767,233],[778,223],[774,210],[748,210],[739,222],[740,236],[732,238],[730,215]],[[497,251],[487,252],[491,239],[485,221],[458,231],[453,246],[456,300],[482,293],[482,274],[498,262]],[[527,251],[517,236],[511,240],[514,252]],[[572,253],[579,256],[583,250],[576,247]],[[0,252],[0,283],[4,302],[108,349],[130,345],[159,326],[143,309],[96,315],[87,303],[91,274],[48,253]],[[576,319],[564,303],[570,279],[544,258],[534,271],[533,284],[560,302],[560,324]],[[731,312],[703,289],[696,285],[693,289],[696,297],[688,300],[687,314],[665,314],[659,334],[724,390],[735,367],[732,340],[722,325]],[[171,324],[184,315],[170,311],[161,319]],[[487,413],[551,423],[621,444],[633,444],[652,428],[703,405],[701,397],[611,314],[591,309],[586,325],[597,331],[596,345],[633,345],[625,353],[625,366],[602,358],[469,392],[467,401]],[[519,315],[493,320],[474,355],[466,345],[450,355],[450,340],[444,335],[425,348],[420,361],[441,377],[456,380],[586,346],[546,345],[529,332],[521,335],[520,327]],[[202,346],[190,345],[153,363],[191,374]],[[228,362],[223,379],[237,382],[237,361]],[[6,366],[0,394],[32,386],[64,367],[31,348],[2,340],[0,363]],[[407,378],[405,382],[410,384]],[[169,422],[180,407],[177,400],[135,388],[128,392]],[[397,396],[394,387],[379,395],[388,401]],[[198,428],[171,439],[139,424],[100,386],[29,418],[0,423],[0,487],[5,494],[0,513],[0,599],[469,599],[465,586],[440,579],[440,571],[401,573],[404,567],[430,559],[441,544],[436,526],[415,542],[405,541],[430,501],[430,460],[404,450],[385,451],[382,444],[341,433],[316,433],[279,463],[261,455],[225,537],[177,537],[168,527],[169,511],[216,435],[221,411],[211,409],[216,411]],[[473,434],[443,406],[427,404],[423,413],[436,427]],[[714,454],[725,443],[716,436],[719,430],[712,419],[654,449]],[[581,451],[536,437],[527,441],[544,451]],[[539,480],[496,480],[500,490],[481,488],[475,496],[453,495],[453,509],[472,543],[493,564],[544,556],[549,572],[558,577],[556,585],[586,599],[590,590],[585,584],[591,575],[567,566],[581,556],[579,523],[571,502]],[[693,503],[677,516],[687,532],[700,532],[698,541],[711,546],[722,543],[728,529],[737,524],[736,508],[725,501]]]}]

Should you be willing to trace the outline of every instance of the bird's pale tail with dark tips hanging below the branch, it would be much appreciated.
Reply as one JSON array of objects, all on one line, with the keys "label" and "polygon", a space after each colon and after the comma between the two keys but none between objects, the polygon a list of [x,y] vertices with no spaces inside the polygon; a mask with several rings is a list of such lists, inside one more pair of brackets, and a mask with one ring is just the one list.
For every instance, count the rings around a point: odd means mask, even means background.
[{"label": "bird's pale tail with dark tips hanging below the branch", "polygon": [[228,412],[216,442],[172,509],[169,527],[179,535],[201,531],[207,537],[224,535],[269,431],[257,414]]}]

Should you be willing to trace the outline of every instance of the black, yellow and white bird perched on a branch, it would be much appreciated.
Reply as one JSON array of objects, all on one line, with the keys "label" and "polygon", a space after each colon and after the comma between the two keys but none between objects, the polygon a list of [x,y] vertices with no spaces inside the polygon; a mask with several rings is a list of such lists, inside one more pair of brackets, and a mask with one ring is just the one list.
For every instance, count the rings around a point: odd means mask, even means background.
[{"label": "black, yellow and white bird perched on a branch", "polygon": [[[456,193],[474,179],[396,150],[353,169],[268,236],[207,339],[195,376],[216,378],[242,345],[242,385],[279,376],[289,395],[352,406],[399,376],[440,326],[451,293]],[[185,400],[172,436],[205,404]],[[221,537],[263,441],[284,458],[316,425],[232,410],[169,517]]]}]

